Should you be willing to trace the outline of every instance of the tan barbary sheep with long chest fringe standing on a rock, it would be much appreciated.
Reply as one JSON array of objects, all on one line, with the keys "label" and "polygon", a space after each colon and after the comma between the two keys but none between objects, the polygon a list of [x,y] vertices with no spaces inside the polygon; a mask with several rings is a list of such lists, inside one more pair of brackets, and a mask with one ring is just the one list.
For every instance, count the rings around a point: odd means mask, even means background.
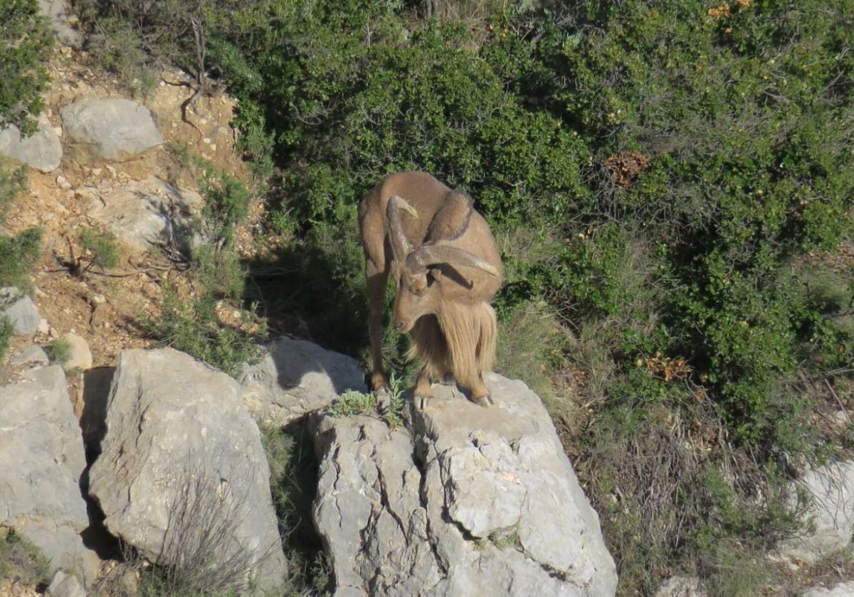
[{"label": "tan barbary sheep with long chest fringe standing on a rock", "polygon": [[447,374],[492,403],[483,374],[492,370],[497,325],[490,302],[503,281],[492,232],[471,197],[425,172],[392,174],[359,206],[365,249],[368,329],[374,391],[386,387],[383,300],[395,280],[395,327],[412,335],[407,356],[423,362],[415,403],[425,408],[432,379]]}]

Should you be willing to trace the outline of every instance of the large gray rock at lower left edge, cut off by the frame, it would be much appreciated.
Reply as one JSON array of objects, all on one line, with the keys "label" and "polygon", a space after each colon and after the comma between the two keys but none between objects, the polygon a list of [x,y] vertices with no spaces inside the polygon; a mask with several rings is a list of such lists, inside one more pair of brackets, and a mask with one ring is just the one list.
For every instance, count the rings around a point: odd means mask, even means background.
[{"label": "large gray rock at lower left edge, cut off by the frame", "polygon": [[85,466],[62,368],[31,369],[0,388],[0,525],[88,584],[99,560],[80,538],[89,526],[79,486]]}]

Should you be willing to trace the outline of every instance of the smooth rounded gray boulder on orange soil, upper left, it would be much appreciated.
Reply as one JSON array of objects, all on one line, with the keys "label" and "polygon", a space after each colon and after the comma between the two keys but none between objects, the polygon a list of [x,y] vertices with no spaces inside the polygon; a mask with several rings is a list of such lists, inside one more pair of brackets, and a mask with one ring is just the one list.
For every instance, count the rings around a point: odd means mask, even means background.
[{"label": "smooth rounded gray boulder on orange soil, upper left", "polygon": [[88,98],[63,107],[69,147],[99,159],[125,161],[161,145],[163,137],[147,107],[123,98]]}]

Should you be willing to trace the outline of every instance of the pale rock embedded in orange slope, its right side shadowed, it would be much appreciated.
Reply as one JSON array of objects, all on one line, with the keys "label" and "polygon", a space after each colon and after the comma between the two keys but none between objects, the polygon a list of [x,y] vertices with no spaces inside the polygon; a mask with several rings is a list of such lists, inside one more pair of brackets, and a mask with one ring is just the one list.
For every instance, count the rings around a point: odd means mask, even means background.
[{"label": "pale rock embedded in orange slope, its right side shadowed", "polygon": [[120,188],[84,189],[88,215],[111,230],[133,252],[190,235],[191,214],[201,208],[202,196],[157,177]]}]

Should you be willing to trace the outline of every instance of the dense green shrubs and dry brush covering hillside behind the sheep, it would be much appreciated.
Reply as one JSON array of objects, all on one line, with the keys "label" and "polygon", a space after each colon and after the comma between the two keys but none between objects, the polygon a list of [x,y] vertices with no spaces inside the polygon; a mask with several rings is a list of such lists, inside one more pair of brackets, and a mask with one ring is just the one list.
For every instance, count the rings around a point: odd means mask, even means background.
[{"label": "dense green shrubs and dry brush covering hillside behind the sheep", "polygon": [[[465,188],[507,267],[500,370],[547,398],[622,594],[680,571],[720,595],[768,583],[764,554],[808,522],[787,478],[854,440],[822,416],[854,404],[851,2],[74,6],[139,96],[173,63],[240,101],[274,251],[200,253],[253,282],[218,296],[364,356],[359,200],[401,170]],[[38,48],[0,42],[21,54],[0,124],[38,108]],[[248,198],[226,191],[207,215],[231,230]],[[385,341],[407,373],[407,340]]]}]

